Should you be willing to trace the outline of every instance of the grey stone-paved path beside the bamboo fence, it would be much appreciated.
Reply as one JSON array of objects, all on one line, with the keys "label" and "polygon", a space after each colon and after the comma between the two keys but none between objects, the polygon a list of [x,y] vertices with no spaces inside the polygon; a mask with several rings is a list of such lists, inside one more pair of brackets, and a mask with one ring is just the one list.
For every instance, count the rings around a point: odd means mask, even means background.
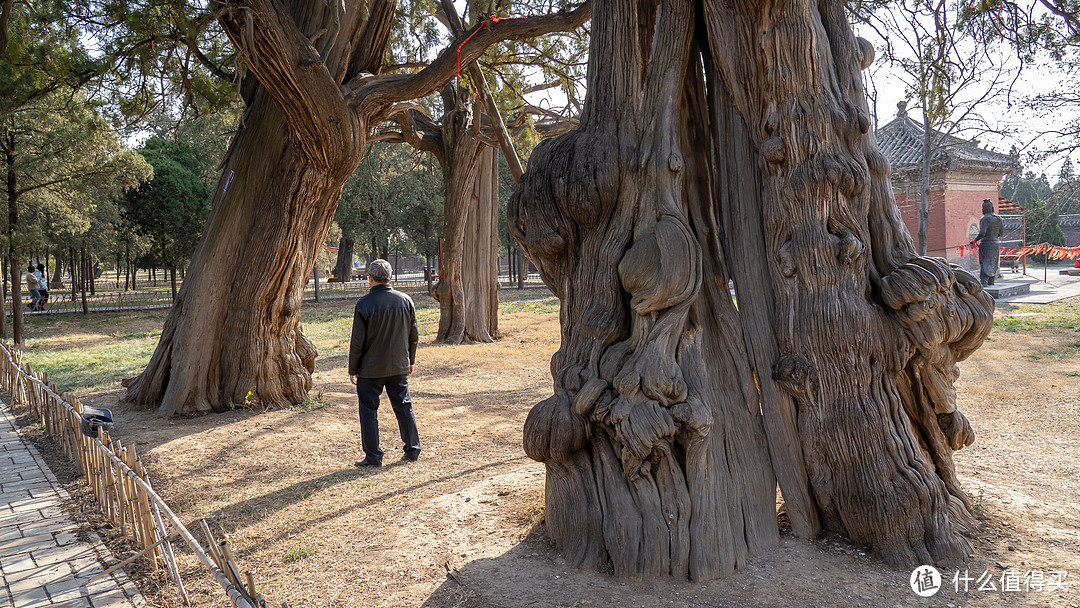
[{"label": "grey stone-paved path beside the bamboo fence", "polygon": [[66,498],[0,403],[0,608],[146,606],[122,569],[86,586],[116,559],[96,535],[79,538],[60,509]]}]

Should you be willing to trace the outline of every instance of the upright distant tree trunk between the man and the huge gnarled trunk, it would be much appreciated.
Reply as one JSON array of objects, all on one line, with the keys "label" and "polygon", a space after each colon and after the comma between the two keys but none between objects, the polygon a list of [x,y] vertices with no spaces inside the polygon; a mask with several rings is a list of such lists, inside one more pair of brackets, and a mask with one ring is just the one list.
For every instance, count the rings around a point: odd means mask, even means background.
[{"label": "upright distant tree trunk between the man and the huge gnarled trunk", "polygon": [[[450,89],[450,87],[448,87]],[[480,136],[467,92],[444,90],[443,274],[435,286],[440,341],[490,342],[499,329],[499,159]]]}]

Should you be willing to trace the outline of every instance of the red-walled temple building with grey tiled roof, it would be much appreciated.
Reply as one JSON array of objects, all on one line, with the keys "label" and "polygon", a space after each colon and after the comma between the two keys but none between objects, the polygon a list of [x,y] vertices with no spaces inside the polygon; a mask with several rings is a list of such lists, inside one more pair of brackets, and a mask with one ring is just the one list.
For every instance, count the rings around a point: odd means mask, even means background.
[{"label": "red-walled temple building with grey tiled roof", "polygon": [[[896,206],[918,246],[923,127],[907,116],[904,102],[897,109],[896,118],[876,135],[881,153],[892,165]],[[983,199],[995,201],[997,213],[1004,211],[998,208],[998,190],[1004,176],[1018,165],[1009,154],[980,148],[977,140],[932,131],[931,141],[927,255],[973,269],[977,262],[971,255],[971,239],[978,233]]]}]

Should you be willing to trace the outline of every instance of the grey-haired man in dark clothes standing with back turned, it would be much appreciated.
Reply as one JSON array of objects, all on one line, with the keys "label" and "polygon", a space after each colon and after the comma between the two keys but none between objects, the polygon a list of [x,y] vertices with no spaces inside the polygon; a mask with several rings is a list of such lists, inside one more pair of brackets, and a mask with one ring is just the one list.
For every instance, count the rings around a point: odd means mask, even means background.
[{"label": "grey-haired man in dark clothes standing with back turned", "polygon": [[408,394],[408,376],[416,363],[416,309],[413,299],[393,289],[393,269],[384,259],[367,266],[368,294],[356,301],[349,344],[349,379],[360,398],[360,436],[364,459],[356,467],[382,467],[379,448],[379,396],[387,389],[405,447],[404,459],[420,456],[420,437]]}]

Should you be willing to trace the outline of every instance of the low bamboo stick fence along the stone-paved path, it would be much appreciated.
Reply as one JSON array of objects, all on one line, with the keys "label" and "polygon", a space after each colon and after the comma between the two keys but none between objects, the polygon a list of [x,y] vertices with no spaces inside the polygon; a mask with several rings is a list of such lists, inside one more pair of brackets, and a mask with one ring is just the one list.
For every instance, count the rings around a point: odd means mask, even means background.
[{"label": "low bamboo stick fence along the stone-paved path", "polygon": [[[153,491],[135,447],[112,440],[105,429],[98,429],[97,437],[84,435],[80,431],[83,406],[78,397],[50,383],[46,374],[33,371],[29,364],[22,365],[22,351],[0,341],[0,388],[11,395],[12,407],[25,404],[29,414],[41,420],[57,449],[78,463],[105,517],[143,548],[86,584],[145,557],[152,568],[168,569],[170,577],[185,603],[188,603],[170,544],[171,540],[179,537],[214,576],[234,606],[266,608],[267,602],[256,592],[251,572],[245,572],[244,580],[241,579],[231,548],[214,539],[205,519],[199,524],[208,550],[203,549],[173,510]],[[175,529],[172,535],[166,533],[162,514]]]}]

